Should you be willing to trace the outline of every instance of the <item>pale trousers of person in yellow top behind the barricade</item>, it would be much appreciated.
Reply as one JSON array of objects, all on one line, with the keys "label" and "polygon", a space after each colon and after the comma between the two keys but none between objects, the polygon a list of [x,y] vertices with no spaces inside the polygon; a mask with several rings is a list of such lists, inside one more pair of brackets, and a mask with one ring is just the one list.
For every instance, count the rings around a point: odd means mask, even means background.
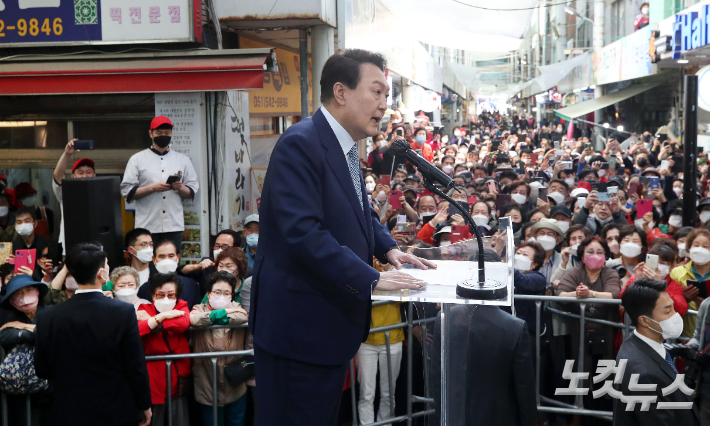
[{"label": "pale trousers of person in yellow top behind the barricade", "polygon": [[[368,345],[363,343],[355,356],[357,361],[357,380],[360,383],[360,398],[357,403],[360,424],[375,421],[374,400],[377,378],[377,365],[380,370],[380,406],[377,409],[377,421],[390,419],[390,395],[394,395],[395,383],[402,364],[402,342],[390,345],[390,363],[392,365],[392,389],[389,386],[386,345]],[[393,396],[394,397],[394,396]]]}]

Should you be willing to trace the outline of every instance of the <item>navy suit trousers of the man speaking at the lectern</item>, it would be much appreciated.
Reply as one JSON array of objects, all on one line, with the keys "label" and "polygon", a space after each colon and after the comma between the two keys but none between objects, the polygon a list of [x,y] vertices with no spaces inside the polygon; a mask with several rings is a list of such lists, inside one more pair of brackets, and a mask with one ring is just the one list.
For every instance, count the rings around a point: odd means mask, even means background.
[{"label": "navy suit trousers of the man speaking at the lectern", "polygon": [[254,345],[259,426],[336,426],[348,364],[319,365]]}]

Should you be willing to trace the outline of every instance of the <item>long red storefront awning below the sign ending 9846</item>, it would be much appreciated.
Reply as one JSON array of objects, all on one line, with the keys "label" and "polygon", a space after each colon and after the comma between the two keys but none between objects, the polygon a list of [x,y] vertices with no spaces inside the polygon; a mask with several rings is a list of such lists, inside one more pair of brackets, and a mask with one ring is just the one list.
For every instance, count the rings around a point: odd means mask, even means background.
[{"label": "long red storefront awning below the sign ending 9846", "polygon": [[0,94],[58,95],[261,89],[272,49],[18,56],[0,62]]}]

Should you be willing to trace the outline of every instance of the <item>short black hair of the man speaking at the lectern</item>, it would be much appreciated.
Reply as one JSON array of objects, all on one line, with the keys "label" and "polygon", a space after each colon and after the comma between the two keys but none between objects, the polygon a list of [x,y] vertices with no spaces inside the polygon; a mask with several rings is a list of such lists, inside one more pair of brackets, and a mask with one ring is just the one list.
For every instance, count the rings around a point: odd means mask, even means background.
[{"label": "short black hair of the man speaking at the lectern", "polygon": [[322,104],[335,98],[333,86],[343,83],[354,90],[360,82],[360,65],[373,64],[382,72],[387,68],[387,60],[379,53],[363,49],[347,49],[328,58],[320,78],[320,101]]}]

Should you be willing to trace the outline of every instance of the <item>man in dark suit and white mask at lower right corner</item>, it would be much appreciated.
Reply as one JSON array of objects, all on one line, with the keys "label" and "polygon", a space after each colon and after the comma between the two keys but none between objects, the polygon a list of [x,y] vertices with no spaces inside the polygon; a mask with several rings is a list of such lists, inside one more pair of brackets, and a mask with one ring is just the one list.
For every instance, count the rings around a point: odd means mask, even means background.
[{"label": "man in dark suit and white mask at lower right corner", "polygon": [[[638,279],[626,288],[621,303],[636,330],[624,341],[616,356],[616,365],[626,360],[626,368],[621,384],[615,384],[614,388],[624,396],[655,396],[656,401],[646,411],[641,409],[640,403],[633,411],[626,411],[627,403],[614,399],[614,426],[699,425],[700,417],[694,405],[690,409],[668,409],[659,405],[693,402],[682,389],[663,395],[663,389],[678,376],[670,354],[663,347],[663,340],[675,339],[683,331],[683,319],[673,309],[673,299],[666,293],[666,282]],[[639,385],[656,385],[655,390],[630,390],[633,374],[638,375]]]}]

